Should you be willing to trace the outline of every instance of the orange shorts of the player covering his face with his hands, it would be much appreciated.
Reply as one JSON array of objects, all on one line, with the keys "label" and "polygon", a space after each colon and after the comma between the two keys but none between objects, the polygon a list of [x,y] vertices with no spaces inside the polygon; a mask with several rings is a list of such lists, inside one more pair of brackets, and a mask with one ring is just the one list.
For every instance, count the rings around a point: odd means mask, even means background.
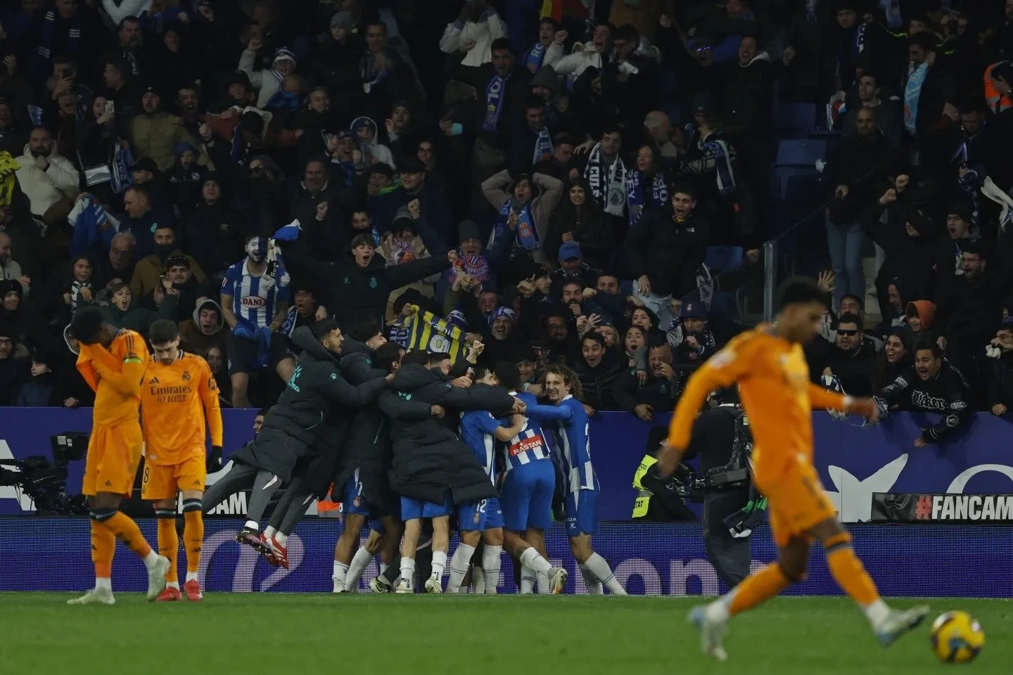
[{"label": "orange shorts of the player covering his face with his hands", "polygon": [[139,423],[92,427],[81,494],[92,497],[111,492],[129,498],[134,491],[143,445]]}]

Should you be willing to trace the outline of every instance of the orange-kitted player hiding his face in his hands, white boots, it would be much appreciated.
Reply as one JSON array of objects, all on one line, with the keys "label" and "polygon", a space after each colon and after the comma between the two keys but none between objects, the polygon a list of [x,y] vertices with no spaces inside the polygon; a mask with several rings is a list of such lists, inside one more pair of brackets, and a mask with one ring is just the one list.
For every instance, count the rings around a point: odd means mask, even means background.
[{"label": "orange-kitted player hiding his face in his hands, white boots", "polygon": [[141,377],[148,349],[138,333],[107,323],[97,308],[74,314],[70,332],[80,343],[77,369],[95,392],[88,456],[81,492],[91,514],[91,560],[95,587],[68,604],[115,603],[112,597],[112,555],[116,538],[144,560],[148,568],[148,599],[165,588],[169,560],[151,550],[137,523],[120,512],[120,502],[134,488],[141,463]]}]

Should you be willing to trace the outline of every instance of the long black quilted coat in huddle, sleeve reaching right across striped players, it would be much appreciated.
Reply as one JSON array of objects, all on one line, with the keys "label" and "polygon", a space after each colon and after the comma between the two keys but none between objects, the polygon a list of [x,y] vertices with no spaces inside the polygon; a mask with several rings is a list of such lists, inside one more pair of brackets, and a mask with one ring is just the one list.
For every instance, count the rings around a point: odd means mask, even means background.
[{"label": "long black quilted coat in huddle, sleeve reaching right across striped players", "polygon": [[[398,370],[391,389],[393,392],[381,399],[385,409],[391,409],[389,397],[395,396],[443,406],[447,409],[444,420],[455,422],[457,410],[505,411],[514,405],[514,398],[504,389],[484,385],[455,389],[442,374],[414,363]],[[392,415],[391,440],[394,492],[435,504],[444,503],[448,496],[454,504],[461,504],[497,495],[478,459],[444,421],[433,416],[407,420]]]}]

